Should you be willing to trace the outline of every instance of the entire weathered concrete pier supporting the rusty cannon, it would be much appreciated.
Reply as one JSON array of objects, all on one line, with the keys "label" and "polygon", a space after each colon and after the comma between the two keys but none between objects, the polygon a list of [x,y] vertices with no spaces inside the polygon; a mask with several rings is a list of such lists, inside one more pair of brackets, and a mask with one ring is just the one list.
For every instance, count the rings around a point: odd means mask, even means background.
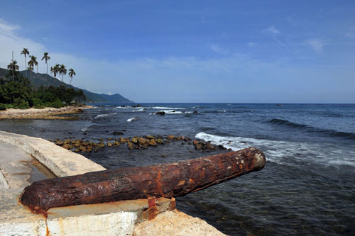
[{"label": "entire weathered concrete pier supporting the rusty cannon", "polygon": [[18,203],[33,181],[104,169],[47,140],[0,131],[0,235],[224,235],[176,210],[175,199],[50,208],[40,214]]}]

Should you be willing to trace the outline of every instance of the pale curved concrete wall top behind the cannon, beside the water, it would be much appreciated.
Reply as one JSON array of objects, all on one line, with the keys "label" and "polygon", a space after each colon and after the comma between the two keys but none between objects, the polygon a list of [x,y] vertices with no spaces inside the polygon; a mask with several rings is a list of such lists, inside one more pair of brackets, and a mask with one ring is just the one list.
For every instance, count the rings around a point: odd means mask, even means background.
[{"label": "pale curved concrete wall top behind the cannon, beside the water", "polygon": [[58,177],[105,170],[104,167],[92,162],[86,157],[65,150],[39,137],[29,137],[0,131],[0,140],[8,142],[11,145],[21,148],[21,150],[28,154],[31,154]]}]

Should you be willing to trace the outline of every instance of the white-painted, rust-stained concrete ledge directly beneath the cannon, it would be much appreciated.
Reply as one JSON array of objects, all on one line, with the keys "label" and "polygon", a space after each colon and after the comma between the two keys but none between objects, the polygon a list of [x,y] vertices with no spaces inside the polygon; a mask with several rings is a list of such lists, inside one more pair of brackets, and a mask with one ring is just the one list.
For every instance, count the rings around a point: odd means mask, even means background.
[{"label": "white-painted, rust-stained concrete ledge directly beneath the cannon", "polygon": [[[21,189],[0,195],[0,235],[133,235],[136,223],[170,209],[167,198],[51,208],[34,214],[18,203]],[[175,206],[175,203],[173,204]]]}]

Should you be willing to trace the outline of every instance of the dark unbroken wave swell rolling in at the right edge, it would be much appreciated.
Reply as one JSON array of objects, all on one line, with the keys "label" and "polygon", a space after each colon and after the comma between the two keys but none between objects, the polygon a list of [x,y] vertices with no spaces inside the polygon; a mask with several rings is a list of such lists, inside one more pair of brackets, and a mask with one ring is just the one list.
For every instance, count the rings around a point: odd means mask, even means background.
[{"label": "dark unbroken wave swell rolling in at the right edge", "polygon": [[311,125],[293,123],[288,120],[272,119],[269,120],[268,123],[273,123],[276,125],[284,125],[292,128],[297,128],[298,130],[306,130],[307,132],[312,132],[312,133],[320,133],[322,135],[328,135],[330,137],[342,137],[349,140],[355,140],[354,133],[347,133],[347,132],[342,132],[337,130],[326,130],[326,129],[316,128]]}]

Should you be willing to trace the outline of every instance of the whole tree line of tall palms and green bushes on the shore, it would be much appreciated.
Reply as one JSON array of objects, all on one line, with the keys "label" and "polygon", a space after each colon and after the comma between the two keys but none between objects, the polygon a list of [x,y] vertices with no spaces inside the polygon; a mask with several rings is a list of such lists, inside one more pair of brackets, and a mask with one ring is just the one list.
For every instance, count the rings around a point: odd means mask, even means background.
[{"label": "whole tree line of tall palms and green bushes on the shore", "polygon": [[[34,67],[36,72],[38,72],[38,62],[37,57],[30,55],[27,48],[23,47],[21,55],[25,56],[25,65],[28,65],[25,71],[25,77],[19,73],[19,66],[16,60],[11,60],[10,64],[7,66],[9,69],[9,74],[6,74],[8,80],[0,79],[0,110],[6,108],[43,108],[43,107],[55,107],[60,108],[62,106],[68,106],[72,103],[80,103],[86,98],[84,92],[75,89],[67,89],[65,86],[54,87],[50,86],[51,79],[49,79],[48,86],[40,86],[35,89],[31,86],[31,83],[27,77],[27,71],[30,72],[29,77],[31,79],[31,74],[33,73]],[[31,59],[27,62],[27,56]],[[48,74],[48,60],[50,57],[48,52],[43,53],[42,60],[45,60],[47,65]],[[67,74],[67,69],[64,64],[55,64],[54,67],[50,67],[50,73],[62,75],[63,77]],[[69,73],[70,84],[72,82],[72,77],[76,75],[74,69],[70,68]]]}]

